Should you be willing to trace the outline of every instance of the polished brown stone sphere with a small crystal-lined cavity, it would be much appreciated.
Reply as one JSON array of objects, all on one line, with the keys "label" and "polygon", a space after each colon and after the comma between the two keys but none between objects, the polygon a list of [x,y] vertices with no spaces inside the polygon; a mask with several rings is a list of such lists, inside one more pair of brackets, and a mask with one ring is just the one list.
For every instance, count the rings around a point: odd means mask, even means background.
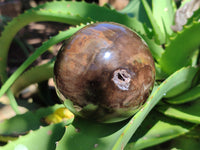
[{"label": "polished brown stone sphere with a small crystal-lined cavity", "polygon": [[54,66],[57,91],[75,115],[117,122],[149,96],[155,67],[147,44],[129,28],[101,22],[68,39]]}]

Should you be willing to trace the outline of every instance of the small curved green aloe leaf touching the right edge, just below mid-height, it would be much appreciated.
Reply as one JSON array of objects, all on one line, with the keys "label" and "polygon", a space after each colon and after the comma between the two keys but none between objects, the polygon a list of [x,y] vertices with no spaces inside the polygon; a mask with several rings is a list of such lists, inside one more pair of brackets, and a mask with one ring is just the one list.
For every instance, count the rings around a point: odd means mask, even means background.
[{"label": "small curved green aloe leaf touching the right edge, just below mid-height", "polygon": [[170,104],[183,104],[190,101],[194,101],[200,98],[200,85],[193,87],[192,89],[178,95],[176,97],[166,99],[165,101]]}]

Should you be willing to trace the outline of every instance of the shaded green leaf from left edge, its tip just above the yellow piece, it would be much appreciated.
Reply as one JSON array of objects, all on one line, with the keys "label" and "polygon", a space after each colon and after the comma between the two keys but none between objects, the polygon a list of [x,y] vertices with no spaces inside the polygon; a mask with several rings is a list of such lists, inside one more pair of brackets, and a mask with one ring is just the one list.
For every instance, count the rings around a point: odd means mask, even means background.
[{"label": "shaded green leaf from left edge, its tip just above the yellow piece", "polygon": [[16,115],[13,118],[4,120],[0,123],[0,135],[19,135],[29,130],[38,129],[41,125],[44,125],[42,119],[60,107],[63,107],[63,105],[40,108],[35,112],[28,111],[25,114]]}]

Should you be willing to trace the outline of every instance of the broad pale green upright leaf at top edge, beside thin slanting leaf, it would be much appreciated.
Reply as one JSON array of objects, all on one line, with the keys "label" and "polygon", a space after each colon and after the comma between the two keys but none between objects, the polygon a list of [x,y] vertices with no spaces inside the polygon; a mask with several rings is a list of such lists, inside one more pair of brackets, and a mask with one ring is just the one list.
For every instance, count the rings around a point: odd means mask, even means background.
[{"label": "broad pale green upright leaf at top edge, beside thin slanting leaf", "polygon": [[163,34],[165,34],[165,28],[168,35],[173,33],[171,29],[171,25],[174,20],[174,7],[173,0],[153,0],[152,1],[152,9],[153,16],[156,18],[157,24],[160,27],[160,30]]}]

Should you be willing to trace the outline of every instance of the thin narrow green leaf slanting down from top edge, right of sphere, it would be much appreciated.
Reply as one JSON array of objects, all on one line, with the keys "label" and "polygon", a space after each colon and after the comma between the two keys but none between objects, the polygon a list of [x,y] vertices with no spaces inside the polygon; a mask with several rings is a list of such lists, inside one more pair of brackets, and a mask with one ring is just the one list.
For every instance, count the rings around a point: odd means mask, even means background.
[{"label": "thin narrow green leaf slanting down from top edge, right of sphere", "polygon": [[142,3],[144,5],[145,11],[147,13],[147,16],[149,18],[149,21],[151,22],[154,34],[155,34],[155,40],[158,44],[163,44],[165,42],[165,36],[161,32],[159,25],[157,24],[156,19],[153,16],[153,13],[151,11],[150,6],[148,5],[146,0],[142,0]]}]

